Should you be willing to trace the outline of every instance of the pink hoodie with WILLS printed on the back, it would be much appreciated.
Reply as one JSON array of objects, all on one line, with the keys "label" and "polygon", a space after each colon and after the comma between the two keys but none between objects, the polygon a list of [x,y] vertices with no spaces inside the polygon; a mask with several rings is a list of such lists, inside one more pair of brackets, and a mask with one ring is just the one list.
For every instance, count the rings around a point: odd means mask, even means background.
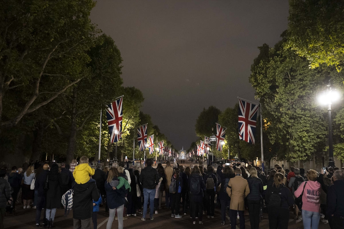
[{"label": "pink hoodie with WILLS printed on the back", "polygon": [[[305,183],[300,184],[294,193],[295,197],[301,195]],[[321,184],[318,181],[307,181],[302,196],[302,210],[320,212],[320,190]]]}]

